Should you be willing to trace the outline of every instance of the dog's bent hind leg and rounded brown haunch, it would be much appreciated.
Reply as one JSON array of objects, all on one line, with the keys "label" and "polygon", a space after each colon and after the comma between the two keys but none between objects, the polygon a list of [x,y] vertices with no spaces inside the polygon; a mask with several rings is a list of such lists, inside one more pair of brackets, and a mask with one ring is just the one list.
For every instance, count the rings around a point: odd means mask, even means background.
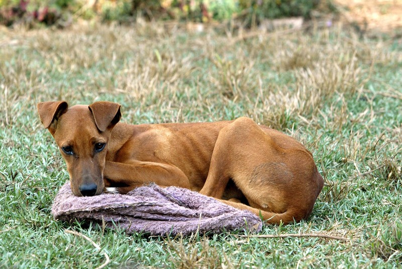
[{"label": "dog's bent hind leg and rounded brown haunch", "polygon": [[317,174],[311,154],[293,138],[239,118],[220,131],[200,193],[222,199],[232,179],[250,206],[226,204],[288,223],[311,213],[322,188]]}]

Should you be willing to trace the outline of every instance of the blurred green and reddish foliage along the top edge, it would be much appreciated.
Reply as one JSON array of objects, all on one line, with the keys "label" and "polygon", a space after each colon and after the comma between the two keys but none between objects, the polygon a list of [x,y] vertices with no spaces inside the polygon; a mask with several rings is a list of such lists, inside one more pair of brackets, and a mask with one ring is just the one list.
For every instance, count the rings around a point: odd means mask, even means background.
[{"label": "blurred green and reddish foliage along the top edge", "polygon": [[71,17],[132,22],[141,17],[191,22],[241,19],[250,25],[280,17],[309,18],[324,1],[330,0],[0,0],[0,24],[51,25]]}]

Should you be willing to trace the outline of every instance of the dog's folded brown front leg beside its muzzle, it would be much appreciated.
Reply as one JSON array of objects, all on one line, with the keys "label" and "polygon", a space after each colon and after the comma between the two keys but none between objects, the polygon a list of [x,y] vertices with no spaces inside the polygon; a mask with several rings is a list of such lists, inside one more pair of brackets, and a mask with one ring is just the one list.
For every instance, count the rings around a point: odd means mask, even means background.
[{"label": "dog's folded brown front leg beside its muzzle", "polygon": [[[191,189],[187,176],[173,165],[133,160],[127,163],[106,161],[104,178],[110,187],[119,188],[126,193],[138,186],[155,183],[159,186],[176,186]],[[127,187],[126,187],[127,186]]]}]

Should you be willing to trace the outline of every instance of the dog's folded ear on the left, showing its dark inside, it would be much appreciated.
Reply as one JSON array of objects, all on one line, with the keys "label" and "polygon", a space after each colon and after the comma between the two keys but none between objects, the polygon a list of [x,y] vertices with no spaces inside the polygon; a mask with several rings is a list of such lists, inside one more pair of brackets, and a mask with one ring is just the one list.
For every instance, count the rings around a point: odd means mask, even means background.
[{"label": "dog's folded ear on the left, showing its dark inside", "polygon": [[68,104],[64,101],[41,102],[36,105],[36,108],[38,109],[39,118],[43,126],[53,135],[56,126],[52,123],[55,123],[67,111]]}]

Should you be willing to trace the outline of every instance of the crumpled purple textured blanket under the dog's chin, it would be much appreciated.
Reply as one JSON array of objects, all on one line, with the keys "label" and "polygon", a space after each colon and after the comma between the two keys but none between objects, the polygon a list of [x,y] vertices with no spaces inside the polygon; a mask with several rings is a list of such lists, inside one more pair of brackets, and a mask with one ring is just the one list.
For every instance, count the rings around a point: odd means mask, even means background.
[{"label": "crumpled purple textured blanket under the dog's chin", "polygon": [[149,185],[126,195],[103,193],[76,197],[67,182],[57,194],[52,214],[55,219],[89,220],[127,233],[183,235],[195,232],[219,233],[244,229],[261,230],[262,221],[253,213],[238,210],[211,197],[187,189]]}]

